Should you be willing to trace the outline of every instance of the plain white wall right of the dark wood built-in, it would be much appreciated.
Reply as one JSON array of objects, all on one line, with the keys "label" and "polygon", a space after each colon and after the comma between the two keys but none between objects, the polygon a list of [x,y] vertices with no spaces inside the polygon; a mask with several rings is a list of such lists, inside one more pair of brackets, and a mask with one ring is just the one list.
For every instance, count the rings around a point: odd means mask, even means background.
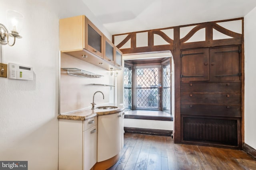
[{"label": "plain white wall right of the dark wood built-in", "polygon": [[245,143],[256,149],[256,107],[255,107],[255,38],[256,8],[244,17],[244,52],[245,52],[245,94],[244,94],[244,137]]}]

